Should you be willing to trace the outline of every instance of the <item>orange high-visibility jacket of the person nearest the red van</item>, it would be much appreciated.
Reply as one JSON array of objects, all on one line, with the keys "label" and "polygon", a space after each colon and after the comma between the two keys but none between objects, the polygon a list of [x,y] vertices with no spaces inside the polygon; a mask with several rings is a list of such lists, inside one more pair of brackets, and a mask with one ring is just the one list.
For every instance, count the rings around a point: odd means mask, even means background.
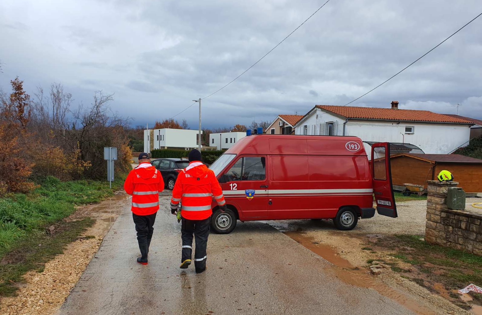
[{"label": "orange high-visibility jacket of the person nearest the red van", "polygon": [[213,214],[213,196],[219,206],[226,204],[214,172],[201,162],[194,161],[177,176],[171,206],[175,207],[181,201],[183,218],[204,220]]}]

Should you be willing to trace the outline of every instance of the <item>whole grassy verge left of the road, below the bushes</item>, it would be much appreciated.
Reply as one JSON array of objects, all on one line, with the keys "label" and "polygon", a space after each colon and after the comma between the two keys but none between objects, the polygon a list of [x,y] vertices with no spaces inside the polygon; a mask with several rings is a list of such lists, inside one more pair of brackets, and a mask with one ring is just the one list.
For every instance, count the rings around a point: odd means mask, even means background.
[{"label": "whole grassy verge left of the road, below the bushes", "polygon": [[[14,284],[22,281],[26,272],[41,272],[45,262],[62,253],[68,243],[93,224],[89,218],[63,220],[76,206],[113,196],[123,181],[120,177],[111,189],[106,181],[61,182],[48,176],[38,180],[39,188],[30,194],[0,198],[0,296],[13,295]],[[52,224],[54,234],[47,234],[45,228]]]}]

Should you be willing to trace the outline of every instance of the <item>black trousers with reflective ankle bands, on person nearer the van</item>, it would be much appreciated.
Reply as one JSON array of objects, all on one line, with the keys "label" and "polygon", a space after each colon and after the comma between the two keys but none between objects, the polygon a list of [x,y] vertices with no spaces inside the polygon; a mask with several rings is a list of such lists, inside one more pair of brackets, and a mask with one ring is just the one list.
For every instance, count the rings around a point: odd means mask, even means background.
[{"label": "black trousers with reflective ankle bands, on person nearer the van", "polygon": [[206,267],[206,247],[208,245],[209,230],[211,228],[211,217],[205,220],[188,220],[182,218],[181,222],[182,258],[181,262],[191,259],[192,238],[196,238],[196,253],[194,254],[194,265],[196,268]]}]

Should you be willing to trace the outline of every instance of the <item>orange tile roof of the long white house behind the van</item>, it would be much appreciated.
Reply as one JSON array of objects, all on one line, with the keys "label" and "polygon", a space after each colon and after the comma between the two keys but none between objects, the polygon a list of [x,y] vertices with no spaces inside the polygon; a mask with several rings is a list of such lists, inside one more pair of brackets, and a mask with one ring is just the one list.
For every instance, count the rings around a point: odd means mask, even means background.
[{"label": "orange tile roof of the long white house behind the van", "polygon": [[428,110],[391,109],[377,107],[316,105],[316,107],[346,118],[404,120],[470,124],[471,121],[430,112]]}]

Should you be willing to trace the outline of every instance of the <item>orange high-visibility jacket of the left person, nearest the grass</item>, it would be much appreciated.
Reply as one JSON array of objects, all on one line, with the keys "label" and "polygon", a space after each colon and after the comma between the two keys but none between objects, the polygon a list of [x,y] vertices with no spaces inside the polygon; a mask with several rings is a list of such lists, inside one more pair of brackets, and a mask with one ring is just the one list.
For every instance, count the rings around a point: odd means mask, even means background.
[{"label": "orange high-visibility jacket of the left person, nearest the grass", "polygon": [[132,212],[149,215],[159,210],[159,192],[164,189],[161,172],[150,163],[141,163],[132,170],[124,183],[124,190],[132,195]]}]

